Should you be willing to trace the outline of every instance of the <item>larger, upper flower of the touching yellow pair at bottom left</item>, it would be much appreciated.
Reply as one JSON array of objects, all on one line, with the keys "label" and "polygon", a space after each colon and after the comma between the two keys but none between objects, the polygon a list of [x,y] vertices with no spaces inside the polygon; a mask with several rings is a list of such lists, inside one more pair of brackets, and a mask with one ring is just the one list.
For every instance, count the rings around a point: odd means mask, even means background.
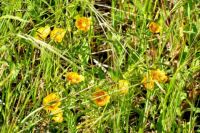
[{"label": "larger, upper flower of the touching yellow pair at bottom left", "polygon": [[60,104],[60,97],[56,93],[51,93],[43,99],[43,106],[45,106],[46,111],[55,111]]}]

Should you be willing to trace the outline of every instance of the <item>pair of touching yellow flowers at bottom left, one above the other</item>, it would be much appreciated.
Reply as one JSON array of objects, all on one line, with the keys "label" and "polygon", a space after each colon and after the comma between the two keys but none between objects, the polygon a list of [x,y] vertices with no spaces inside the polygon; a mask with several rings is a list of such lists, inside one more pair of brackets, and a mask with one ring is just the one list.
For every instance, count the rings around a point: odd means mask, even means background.
[{"label": "pair of touching yellow flowers at bottom left, one above the other", "polygon": [[61,123],[63,121],[63,112],[59,108],[61,105],[60,97],[56,93],[51,93],[43,99],[44,109],[49,113],[53,113],[53,120]]}]

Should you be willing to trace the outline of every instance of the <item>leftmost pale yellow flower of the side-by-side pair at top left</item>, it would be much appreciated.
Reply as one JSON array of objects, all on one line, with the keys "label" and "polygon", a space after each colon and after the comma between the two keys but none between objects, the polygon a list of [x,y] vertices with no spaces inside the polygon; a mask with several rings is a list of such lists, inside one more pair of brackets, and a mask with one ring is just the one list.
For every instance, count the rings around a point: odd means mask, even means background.
[{"label": "leftmost pale yellow flower of the side-by-side pair at top left", "polygon": [[35,38],[38,40],[45,40],[50,32],[50,26],[40,27],[35,34]]}]

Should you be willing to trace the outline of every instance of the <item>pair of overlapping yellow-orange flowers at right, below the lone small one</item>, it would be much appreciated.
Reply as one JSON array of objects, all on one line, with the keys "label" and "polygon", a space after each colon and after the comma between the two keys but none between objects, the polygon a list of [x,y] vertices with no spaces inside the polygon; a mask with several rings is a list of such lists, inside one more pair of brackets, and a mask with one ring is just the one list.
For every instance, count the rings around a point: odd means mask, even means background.
[{"label": "pair of overlapping yellow-orange flowers at right, below the lone small one", "polygon": [[145,88],[152,90],[154,88],[155,81],[159,83],[165,83],[168,80],[164,71],[160,69],[151,70],[149,74],[147,74],[143,80],[142,84]]}]

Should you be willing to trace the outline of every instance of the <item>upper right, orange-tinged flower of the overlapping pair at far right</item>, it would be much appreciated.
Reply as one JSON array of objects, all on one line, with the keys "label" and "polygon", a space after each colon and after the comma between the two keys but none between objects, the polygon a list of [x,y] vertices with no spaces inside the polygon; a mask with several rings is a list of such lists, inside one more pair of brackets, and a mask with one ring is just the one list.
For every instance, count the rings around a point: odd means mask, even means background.
[{"label": "upper right, orange-tinged flower of the overlapping pair at far right", "polygon": [[168,80],[167,76],[165,75],[165,72],[161,71],[160,69],[152,70],[151,76],[153,80],[157,80],[158,82],[161,83],[165,83]]}]

